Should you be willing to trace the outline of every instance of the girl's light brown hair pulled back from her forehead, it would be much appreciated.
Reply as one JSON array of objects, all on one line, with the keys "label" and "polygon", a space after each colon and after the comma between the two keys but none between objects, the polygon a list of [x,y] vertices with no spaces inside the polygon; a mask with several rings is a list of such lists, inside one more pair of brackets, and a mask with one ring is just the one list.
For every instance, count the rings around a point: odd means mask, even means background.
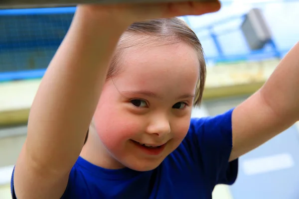
[{"label": "girl's light brown hair pulled back from her forehead", "polygon": [[[141,39],[128,39],[136,35],[142,35]],[[148,37],[147,37],[148,36]],[[194,105],[200,105],[203,95],[203,89],[206,79],[206,63],[204,60],[203,49],[196,34],[191,28],[179,18],[161,18],[151,19],[142,22],[133,23],[127,28],[121,36],[114,53],[111,66],[108,70],[107,79],[115,77],[120,72],[119,61],[122,56],[122,50],[130,46],[142,45],[147,43],[149,39],[155,41],[162,41],[161,43],[172,44],[178,42],[185,42],[194,48],[197,52],[199,60],[199,79],[196,85]]]}]

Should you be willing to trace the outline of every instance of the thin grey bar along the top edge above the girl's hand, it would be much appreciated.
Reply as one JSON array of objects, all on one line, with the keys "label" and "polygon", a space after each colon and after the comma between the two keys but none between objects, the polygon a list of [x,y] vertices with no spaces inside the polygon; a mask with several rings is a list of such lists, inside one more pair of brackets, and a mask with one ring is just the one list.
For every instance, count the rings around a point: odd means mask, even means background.
[{"label": "thin grey bar along the top edge above the girl's hand", "polygon": [[[156,2],[181,2],[189,0],[0,0],[0,8],[33,8],[33,7],[61,7],[76,4],[116,4],[116,3],[156,3]],[[216,0],[196,0],[212,1]]]}]

